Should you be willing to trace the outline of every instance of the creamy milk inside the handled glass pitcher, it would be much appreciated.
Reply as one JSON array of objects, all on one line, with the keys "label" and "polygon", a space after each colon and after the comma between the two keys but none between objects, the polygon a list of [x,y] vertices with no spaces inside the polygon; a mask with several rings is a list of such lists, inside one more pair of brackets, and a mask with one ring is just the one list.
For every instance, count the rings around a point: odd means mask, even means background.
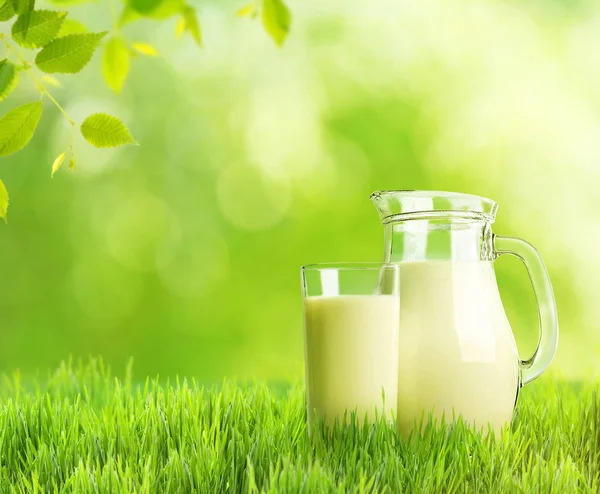
[{"label": "creamy milk inside the handled glass pitcher", "polygon": [[516,344],[491,262],[400,264],[397,423],[461,415],[495,432],[510,422],[519,387]]}]

